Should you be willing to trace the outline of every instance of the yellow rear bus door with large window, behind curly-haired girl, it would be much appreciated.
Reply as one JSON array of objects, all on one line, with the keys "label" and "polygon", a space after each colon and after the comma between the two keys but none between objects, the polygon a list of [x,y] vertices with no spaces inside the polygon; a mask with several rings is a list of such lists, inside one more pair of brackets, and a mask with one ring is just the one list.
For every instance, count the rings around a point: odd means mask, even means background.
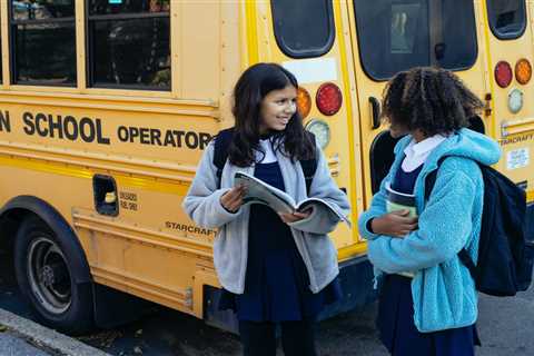
[{"label": "yellow rear bus door with large window, behind curly-haired girl", "polygon": [[396,144],[379,120],[386,81],[412,67],[437,66],[457,71],[469,88],[484,96],[486,82],[479,50],[484,42],[476,36],[472,1],[353,0],[348,7],[360,108],[363,172],[366,197],[370,199],[393,162]]}]

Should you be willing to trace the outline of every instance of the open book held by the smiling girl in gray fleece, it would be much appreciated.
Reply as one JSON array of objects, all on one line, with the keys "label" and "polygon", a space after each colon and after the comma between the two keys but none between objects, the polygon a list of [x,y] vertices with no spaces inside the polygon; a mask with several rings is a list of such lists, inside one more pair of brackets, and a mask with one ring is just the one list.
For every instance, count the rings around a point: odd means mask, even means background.
[{"label": "open book held by the smiling girl in gray fleece", "polygon": [[305,211],[314,205],[320,205],[332,212],[334,212],[340,220],[345,221],[350,227],[350,221],[343,214],[343,211],[335,205],[329,204],[320,198],[307,198],[300,202],[296,202],[289,195],[280,189],[277,189],[258,178],[237,171],[234,176],[234,186],[243,185],[247,187],[247,192],[244,197],[244,205],[247,204],[263,204],[270,207],[277,212],[295,212]]}]

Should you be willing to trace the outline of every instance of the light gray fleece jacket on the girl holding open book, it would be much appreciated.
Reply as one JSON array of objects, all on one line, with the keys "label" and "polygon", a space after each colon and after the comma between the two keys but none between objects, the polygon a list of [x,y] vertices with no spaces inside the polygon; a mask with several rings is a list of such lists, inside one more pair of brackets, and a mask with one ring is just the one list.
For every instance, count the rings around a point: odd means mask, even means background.
[{"label": "light gray fleece jacket on the girl holding open book", "polygon": [[[349,205],[346,195],[336,186],[330,177],[328,165],[319,147],[317,151],[317,170],[314,176],[309,196],[322,198],[339,207],[347,215]],[[306,181],[300,162],[291,162],[289,158],[276,152],[286,192],[295,201],[307,198]],[[229,161],[222,169],[220,189],[217,188],[217,168],[214,165],[214,142],[208,145],[182,207],[187,215],[205,228],[218,228],[214,244],[214,263],[222,287],[235,294],[245,290],[245,275],[248,257],[248,219],[250,207],[243,206],[237,212],[228,212],[220,205],[220,197],[234,184],[236,171],[254,174],[254,166],[237,167]],[[314,206],[306,219],[289,224],[296,246],[300,253],[309,275],[309,288],[318,293],[339,273],[337,249],[327,234],[332,233],[338,217],[320,206]]]}]

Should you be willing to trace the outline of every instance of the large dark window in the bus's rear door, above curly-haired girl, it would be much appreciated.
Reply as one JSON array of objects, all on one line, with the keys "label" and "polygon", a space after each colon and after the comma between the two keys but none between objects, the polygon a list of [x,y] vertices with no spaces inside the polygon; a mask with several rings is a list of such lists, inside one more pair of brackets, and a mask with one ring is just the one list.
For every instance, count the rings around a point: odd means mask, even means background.
[{"label": "large dark window in the bus's rear door, above curly-haired girl", "polygon": [[477,56],[475,13],[468,0],[356,0],[360,60],[375,80],[416,66],[451,70]]}]

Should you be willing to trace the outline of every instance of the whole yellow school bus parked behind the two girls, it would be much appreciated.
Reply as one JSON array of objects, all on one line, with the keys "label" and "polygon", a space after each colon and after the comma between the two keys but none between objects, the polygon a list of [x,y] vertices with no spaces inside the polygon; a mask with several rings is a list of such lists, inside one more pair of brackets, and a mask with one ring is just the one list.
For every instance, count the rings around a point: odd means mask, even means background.
[{"label": "whole yellow school bus parked behind the two girls", "polygon": [[[501,142],[497,168],[532,201],[533,11],[524,0],[1,1],[0,231],[20,289],[70,333],[123,322],[139,300],[231,328],[216,307],[217,231],[180,204],[233,125],[235,80],[260,61],[299,80],[353,222],[393,159],[385,82],[414,66],[454,70],[485,100],[472,127]],[[325,316],[374,298],[356,225],[332,238],[345,296]]]}]

